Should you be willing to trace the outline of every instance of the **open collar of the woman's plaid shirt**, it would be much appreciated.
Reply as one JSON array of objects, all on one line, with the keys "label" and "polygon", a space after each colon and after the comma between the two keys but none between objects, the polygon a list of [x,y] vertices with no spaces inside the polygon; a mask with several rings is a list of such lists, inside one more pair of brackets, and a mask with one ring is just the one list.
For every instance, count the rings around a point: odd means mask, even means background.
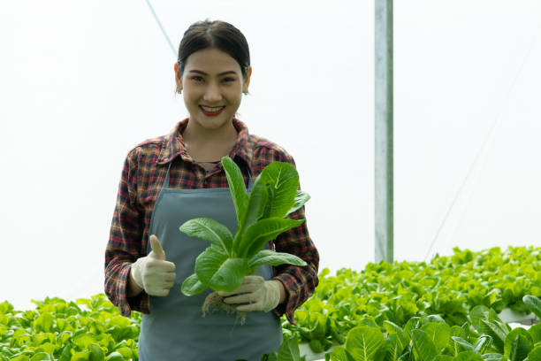
[{"label": "open collar of the woman's plaid shirt", "polygon": [[[189,118],[180,120],[171,130],[171,133],[165,136],[164,142],[162,143],[162,150],[160,151],[157,160],[158,164],[167,164],[175,157],[179,156],[182,157],[184,161],[194,162],[194,159],[188,154],[184,140],[182,139],[182,132],[187,127],[188,119]],[[232,119],[232,124],[233,127],[237,129],[237,132],[239,132],[239,135],[237,136],[237,141],[235,142],[229,157],[232,159],[234,159],[234,157],[240,157],[251,167],[254,150],[252,150],[251,147],[248,147],[248,127],[236,118]]]}]

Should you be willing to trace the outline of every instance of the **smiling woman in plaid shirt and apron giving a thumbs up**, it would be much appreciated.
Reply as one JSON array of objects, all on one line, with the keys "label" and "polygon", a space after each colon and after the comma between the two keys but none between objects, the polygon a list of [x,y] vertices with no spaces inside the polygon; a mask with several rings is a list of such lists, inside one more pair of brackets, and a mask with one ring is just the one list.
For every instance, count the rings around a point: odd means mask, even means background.
[{"label": "smiling woman in plaid shirt and apron giving a thumbs up", "polygon": [[[189,118],[126,157],[105,251],[105,293],[122,315],[143,313],[141,361],[259,360],[282,342],[279,317],[285,313],[294,324],[294,310],[316,288],[319,255],[306,222],[269,246],[301,257],[307,266],[260,266],[237,290],[221,293],[225,303],[248,311],[244,325],[225,312],[202,318],[210,290],[181,294],[195,257],[209,244],[187,237],[179,225],[209,217],[234,234],[236,215],[221,157],[240,166],[248,188],[266,165],[294,165],[293,157],[248,134],[235,118],[252,74],[248,42],[236,27],[223,21],[193,24],[180,42],[174,73]],[[290,217],[304,219],[304,209]]]}]

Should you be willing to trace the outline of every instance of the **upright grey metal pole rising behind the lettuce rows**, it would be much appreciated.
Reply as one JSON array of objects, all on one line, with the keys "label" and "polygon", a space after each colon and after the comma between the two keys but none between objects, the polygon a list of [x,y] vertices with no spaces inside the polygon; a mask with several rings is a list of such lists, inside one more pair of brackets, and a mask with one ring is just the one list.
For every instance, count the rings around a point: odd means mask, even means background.
[{"label": "upright grey metal pole rising behind the lettuce rows", "polygon": [[376,262],[393,261],[392,0],[376,1]]}]

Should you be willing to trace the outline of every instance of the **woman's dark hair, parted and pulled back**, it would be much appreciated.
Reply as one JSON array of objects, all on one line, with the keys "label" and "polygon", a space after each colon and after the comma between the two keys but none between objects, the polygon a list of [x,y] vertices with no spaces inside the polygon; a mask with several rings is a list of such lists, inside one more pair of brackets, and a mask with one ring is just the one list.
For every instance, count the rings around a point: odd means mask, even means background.
[{"label": "woman's dark hair, parted and pulled back", "polygon": [[250,50],[240,30],[225,21],[197,21],[187,28],[179,45],[179,72],[184,71],[187,58],[195,51],[216,48],[229,54],[240,65],[242,76],[248,75]]}]

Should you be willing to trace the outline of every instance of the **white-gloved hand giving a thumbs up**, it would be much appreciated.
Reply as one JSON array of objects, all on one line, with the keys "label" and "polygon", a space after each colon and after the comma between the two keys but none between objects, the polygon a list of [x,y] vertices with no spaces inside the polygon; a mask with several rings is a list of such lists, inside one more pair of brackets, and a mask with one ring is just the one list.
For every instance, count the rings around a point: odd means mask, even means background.
[{"label": "white-gloved hand giving a thumbs up", "polygon": [[152,296],[167,296],[177,274],[175,264],[165,260],[165,252],[156,235],[150,236],[152,251],[132,264],[133,280]]}]

